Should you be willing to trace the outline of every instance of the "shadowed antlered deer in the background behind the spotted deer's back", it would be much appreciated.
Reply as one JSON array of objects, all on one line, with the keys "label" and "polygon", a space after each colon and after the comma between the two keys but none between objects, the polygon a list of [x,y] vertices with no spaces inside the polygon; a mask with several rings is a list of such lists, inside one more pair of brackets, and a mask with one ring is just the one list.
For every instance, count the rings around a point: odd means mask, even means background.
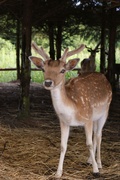
[{"label": "shadowed antlered deer in the background behind the spotted deer's back", "polygon": [[78,72],[78,74],[83,74],[86,72],[95,72],[96,70],[96,64],[95,64],[95,57],[96,57],[96,53],[99,52],[99,47],[100,42],[96,45],[96,47],[94,49],[85,46],[88,50],[88,52],[90,52],[90,56],[89,58],[85,58],[81,61],[81,70]]}]

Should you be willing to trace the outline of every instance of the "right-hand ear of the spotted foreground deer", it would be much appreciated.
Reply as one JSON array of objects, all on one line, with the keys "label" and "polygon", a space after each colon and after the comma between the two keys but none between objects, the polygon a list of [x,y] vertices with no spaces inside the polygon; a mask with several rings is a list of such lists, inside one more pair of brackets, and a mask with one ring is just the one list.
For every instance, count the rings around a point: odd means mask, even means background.
[{"label": "right-hand ear of the spotted foreground deer", "polygon": [[77,65],[79,60],[80,60],[79,58],[69,60],[68,63],[65,65],[65,69],[67,71],[74,69],[74,67]]}]

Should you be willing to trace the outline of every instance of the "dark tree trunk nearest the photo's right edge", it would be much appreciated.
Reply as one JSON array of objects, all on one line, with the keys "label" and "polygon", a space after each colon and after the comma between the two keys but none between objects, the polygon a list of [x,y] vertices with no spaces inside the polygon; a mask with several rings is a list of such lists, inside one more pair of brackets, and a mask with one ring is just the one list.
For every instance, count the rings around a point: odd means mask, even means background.
[{"label": "dark tree trunk nearest the photo's right edge", "polygon": [[108,79],[115,87],[115,40],[116,40],[116,8],[110,9],[109,24],[109,53],[108,53]]}]

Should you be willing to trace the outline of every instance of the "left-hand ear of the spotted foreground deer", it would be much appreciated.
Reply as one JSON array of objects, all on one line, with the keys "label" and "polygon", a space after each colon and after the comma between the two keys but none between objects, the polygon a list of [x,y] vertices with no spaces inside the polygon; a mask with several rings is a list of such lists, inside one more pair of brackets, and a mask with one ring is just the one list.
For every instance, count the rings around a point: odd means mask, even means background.
[{"label": "left-hand ear of the spotted foreground deer", "polygon": [[41,58],[35,57],[35,56],[29,56],[28,57],[31,62],[37,67],[37,68],[43,68],[44,61]]}]

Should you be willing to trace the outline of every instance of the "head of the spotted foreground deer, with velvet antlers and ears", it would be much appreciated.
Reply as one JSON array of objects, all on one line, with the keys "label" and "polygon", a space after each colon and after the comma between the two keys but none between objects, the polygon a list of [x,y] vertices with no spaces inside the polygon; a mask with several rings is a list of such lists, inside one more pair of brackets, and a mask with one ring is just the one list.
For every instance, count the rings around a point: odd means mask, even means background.
[{"label": "head of the spotted foreground deer, with velvet antlers and ears", "polygon": [[[42,59],[42,58],[30,56],[29,59],[35,64],[37,68],[40,68],[44,72],[44,78],[45,78],[44,87],[46,89],[52,89],[58,86],[61,82],[64,82],[65,72],[72,70],[79,62],[79,58],[71,59],[68,62],[66,62],[66,59],[76,53],[79,53],[85,48],[84,45],[81,45],[78,49],[75,49],[73,51],[68,51],[67,48],[65,49],[60,59],[52,60],[45,53],[43,48],[38,48],[35,43],[32,43],[32,47],[36,52],[38,52],[43,57]],[[54,81],[52,80],[53,77],[54,77]]]}]

